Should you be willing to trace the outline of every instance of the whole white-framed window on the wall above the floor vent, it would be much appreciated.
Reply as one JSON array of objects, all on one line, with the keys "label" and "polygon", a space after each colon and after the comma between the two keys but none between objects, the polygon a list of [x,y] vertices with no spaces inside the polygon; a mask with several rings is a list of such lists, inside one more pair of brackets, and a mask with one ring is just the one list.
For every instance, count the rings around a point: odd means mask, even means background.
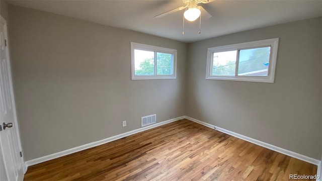
[{"label": "whole white-framed window on the wall above the floor vent", "polygon": [[131,42],[132,80],[175,79],[177,50]]}]

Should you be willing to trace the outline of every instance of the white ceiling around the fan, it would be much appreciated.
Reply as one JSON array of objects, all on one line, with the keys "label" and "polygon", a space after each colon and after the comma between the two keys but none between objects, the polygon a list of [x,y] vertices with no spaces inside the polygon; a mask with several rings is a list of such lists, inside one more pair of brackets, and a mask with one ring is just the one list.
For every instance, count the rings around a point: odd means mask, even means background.
[{"label": "white ceiling around the fan", "polygon": [[185,35],[182,35],[183,11],[154,18],[183,6],[182,0],[9,0],[8,3],[182,42],[322,16],[322,0],[217,0],[203,6],[212,18],[201,18],[201,34],[196,20],[185,22]]}]

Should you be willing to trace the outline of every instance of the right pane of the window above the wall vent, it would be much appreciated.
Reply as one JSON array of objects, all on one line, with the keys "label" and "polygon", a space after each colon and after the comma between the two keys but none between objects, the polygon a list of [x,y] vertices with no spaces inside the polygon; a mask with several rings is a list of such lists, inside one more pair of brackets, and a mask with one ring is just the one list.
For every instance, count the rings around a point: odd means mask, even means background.
[{"label": "right pane of the window above the wall vent", "polygon": [[173,54],[156,52],[156,74],[173,74]]}]

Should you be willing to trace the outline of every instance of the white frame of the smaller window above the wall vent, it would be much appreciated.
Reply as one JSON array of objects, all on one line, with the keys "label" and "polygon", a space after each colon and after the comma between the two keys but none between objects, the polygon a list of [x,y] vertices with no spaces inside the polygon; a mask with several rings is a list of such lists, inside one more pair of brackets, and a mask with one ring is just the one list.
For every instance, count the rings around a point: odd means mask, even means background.
[{"label": "white frame of the smaller window above the wall vent", "polygon": [[[154,52],[154,75],[135,75],[134,49]],[[173,74],[171,75],[156,74],[156,66],[157,66],[156,52],[173,54]],[[132,80],[176,79],[177,78],[177,50],[131,42],[131,78]]]}]

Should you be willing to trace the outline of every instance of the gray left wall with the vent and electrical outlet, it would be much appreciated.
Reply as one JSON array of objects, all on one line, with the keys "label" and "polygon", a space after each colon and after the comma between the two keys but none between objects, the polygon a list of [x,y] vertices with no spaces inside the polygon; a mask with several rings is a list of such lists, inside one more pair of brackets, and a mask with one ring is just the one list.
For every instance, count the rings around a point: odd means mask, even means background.
[{"label": "gray left wall with the vent and electrical outlet", "polygon": [[[15,6],[9,19],[25,160],[185,115],[187,44]],[[130,41],[177,49],[177,79],[131,80]]]}]

